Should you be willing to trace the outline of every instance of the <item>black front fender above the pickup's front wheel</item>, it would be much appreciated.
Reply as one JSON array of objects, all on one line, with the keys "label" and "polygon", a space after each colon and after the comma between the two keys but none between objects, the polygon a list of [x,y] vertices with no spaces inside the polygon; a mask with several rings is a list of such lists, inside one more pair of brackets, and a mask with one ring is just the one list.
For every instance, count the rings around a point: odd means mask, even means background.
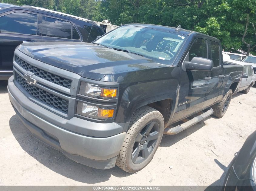
[{"label": "black front fender above the pickup's front wheel", "polygon": [[105,76],[102,81],[109,81],[110,79],[116,80],[120,84],[115,122],[130,122],[133,113],[138,108],[166,99],[171,99],[169,106],[166,106],[171,107],[169,116],[164,116],[166,122],[169,121],[170,113],[174,113],[177,87],[180,87],[179,67],[165,66],[128,71],[123,74],[115,73]]}]

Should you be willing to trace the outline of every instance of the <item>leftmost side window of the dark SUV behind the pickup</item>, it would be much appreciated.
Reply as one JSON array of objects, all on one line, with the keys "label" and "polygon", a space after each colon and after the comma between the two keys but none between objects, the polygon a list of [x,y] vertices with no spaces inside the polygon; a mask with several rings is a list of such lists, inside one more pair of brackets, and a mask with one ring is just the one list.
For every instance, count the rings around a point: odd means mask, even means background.
[{"label": "leftmost side window of the dark SUV behind the pickup", "polygon": [[14,12],[0,17],[0,29],[4,33],[37,35],[38,15]]}]

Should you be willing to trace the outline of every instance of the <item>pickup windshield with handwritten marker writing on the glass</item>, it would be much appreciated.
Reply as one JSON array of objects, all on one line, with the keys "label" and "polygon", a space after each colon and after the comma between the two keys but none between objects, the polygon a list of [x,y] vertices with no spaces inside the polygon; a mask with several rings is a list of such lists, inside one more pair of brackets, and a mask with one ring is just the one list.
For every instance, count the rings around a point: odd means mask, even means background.
[{"label": "pickup windshield with handwritten marker writing on the glass", "polygon": [[93,43],[135,53],[155,62],[170,64],[186,37],[177,33],[145,27],[121,26]]}]

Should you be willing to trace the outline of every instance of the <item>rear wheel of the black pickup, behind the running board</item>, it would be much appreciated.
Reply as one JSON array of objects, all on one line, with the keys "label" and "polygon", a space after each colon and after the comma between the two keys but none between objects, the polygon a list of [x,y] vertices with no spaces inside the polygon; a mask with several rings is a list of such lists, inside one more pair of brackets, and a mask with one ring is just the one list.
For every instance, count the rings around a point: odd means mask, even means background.
[{"label": "rear wheel of the black pickup, behind the running board", "polygon": [[213,109],[213,116],[221,118],[224,116],[226,111],[228,110],[228,106],[230,104],[232,98],[232,90],[229,90],[226,95],[222,98],[220,103],[213,105],[211,108]]}]

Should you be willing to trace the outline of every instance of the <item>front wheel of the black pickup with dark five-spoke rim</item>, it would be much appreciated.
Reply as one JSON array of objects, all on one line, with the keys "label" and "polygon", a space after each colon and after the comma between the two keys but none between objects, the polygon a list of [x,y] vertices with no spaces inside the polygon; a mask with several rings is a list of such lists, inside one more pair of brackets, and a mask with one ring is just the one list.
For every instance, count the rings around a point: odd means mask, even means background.
[{"label": "front wheel of the black pickup with dark five-spoke rim", "polygon": [[164,118],[158,110],[148,106],[137,109],[131,119],[116,165],[129,173],[143,169],[152,160],[163,132]]}]

